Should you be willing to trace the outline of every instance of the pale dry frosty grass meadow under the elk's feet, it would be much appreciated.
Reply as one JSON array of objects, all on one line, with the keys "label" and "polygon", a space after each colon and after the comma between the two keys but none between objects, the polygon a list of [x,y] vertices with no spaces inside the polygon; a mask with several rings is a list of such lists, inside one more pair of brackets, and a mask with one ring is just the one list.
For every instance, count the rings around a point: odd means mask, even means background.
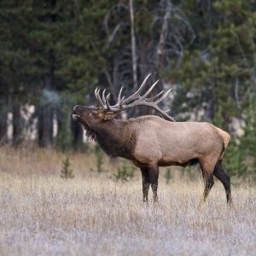
[{"label": "pale dry frosty grass meadow under the elk's feet", "polygon": [[139,175],[115,183],[75,154],[65,181],[62,158],[0,149],[0,255],[256,255],[254,187],[233,187],[227,207],[216,183],[198,207],[202,183],[160,177],[160,202],[145,205]]}]

